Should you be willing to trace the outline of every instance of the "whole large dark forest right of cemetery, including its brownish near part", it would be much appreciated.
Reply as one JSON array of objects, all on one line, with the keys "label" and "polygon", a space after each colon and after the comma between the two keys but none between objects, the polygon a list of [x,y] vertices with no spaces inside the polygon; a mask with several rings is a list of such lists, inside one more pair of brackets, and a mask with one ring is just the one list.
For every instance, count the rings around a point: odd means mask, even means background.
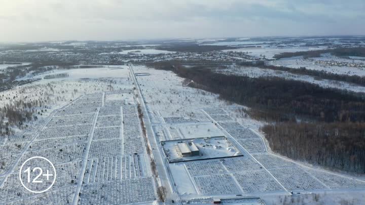
[{"label": "whole large dark forest right of cemetery, including its brownish near part", "polygon": [[191,87],[246,105],[253,118],[276,122],[262,128],[274,151],[321,166],[365,173],[363,95],[277,77],[225,75],[176,62],[149,66],[171,70],[193,80]]}]

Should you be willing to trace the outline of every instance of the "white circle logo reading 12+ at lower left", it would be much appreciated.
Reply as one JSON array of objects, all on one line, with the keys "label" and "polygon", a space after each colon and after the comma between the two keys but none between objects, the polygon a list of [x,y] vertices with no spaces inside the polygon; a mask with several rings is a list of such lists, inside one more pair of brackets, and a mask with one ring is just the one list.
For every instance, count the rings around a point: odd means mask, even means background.
[{"label": "white circle logo reading 12+ at lower left", "polygon": [[56,169],[47,158],[33,156],[25,160],[20,167],[19,179],[26,190],[33,193],[43,193],[55,183]]}]

